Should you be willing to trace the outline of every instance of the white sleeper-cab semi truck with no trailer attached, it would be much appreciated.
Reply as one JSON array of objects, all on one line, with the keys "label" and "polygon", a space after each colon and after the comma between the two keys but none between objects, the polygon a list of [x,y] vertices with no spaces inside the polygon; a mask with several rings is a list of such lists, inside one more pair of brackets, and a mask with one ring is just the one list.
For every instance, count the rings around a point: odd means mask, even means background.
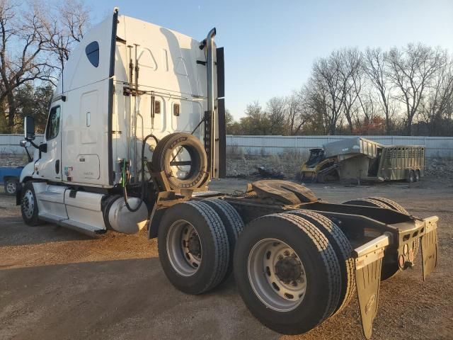
[{"label": "white sleeper-cab semi truck with no trailer attached", "polygon": [[[357,292],[369,339],[381,280],[416,256],[423,278],[437,265],[437,217],[379,197],[327,203],[287,181],[210,191],[226,163],[215,35],[197,41],[117,9],[85,35],[21,173],[23,220],[93,236],[146,226],[178,290],[205,293],[234,272],[251,313],[282,334],[313,329]],[[35,145],[32,118],[24,128],[21,145]]]}]

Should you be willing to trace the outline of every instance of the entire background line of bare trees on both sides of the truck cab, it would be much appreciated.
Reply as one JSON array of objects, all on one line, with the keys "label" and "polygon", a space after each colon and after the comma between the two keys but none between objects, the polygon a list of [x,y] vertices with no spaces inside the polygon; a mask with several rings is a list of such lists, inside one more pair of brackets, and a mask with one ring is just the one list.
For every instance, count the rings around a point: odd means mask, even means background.
[{"label": "entire background line of bare trees on both sides of the truck cab", "polygon": [[[0,133],[21,132],[47,105],[91,17],[84,0],[0,0]],[[343,48],[315,60],[297,91],[226,115],[234,135],[452,135],[453,61],[447,50],[409,44]]]}]

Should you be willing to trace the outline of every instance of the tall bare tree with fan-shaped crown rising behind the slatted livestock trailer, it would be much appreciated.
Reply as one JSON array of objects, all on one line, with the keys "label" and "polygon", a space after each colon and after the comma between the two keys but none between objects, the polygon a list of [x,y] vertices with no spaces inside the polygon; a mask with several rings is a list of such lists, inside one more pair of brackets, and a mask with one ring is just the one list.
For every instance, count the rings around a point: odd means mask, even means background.
[{"label": "tall bare tree with fan-shaped crown rising behind the slatted livestock trailer", "polygon": [[415,113],[435,73],[444,67],[446,53],[424,45],[409,44],[404,50],[389,52],[389,77],[400,91],[398,99],[406,106],[406,133],[412,134]]}]

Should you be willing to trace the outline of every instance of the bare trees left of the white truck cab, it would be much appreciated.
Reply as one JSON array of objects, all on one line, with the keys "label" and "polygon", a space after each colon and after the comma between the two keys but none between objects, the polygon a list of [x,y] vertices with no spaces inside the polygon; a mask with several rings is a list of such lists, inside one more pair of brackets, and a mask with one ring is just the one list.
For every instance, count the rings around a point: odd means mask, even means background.
[{"label": "bare trees left of the white truck cab", "polygon": [[43,132],[64,63],[90,27],[83,0],[0,0],[0,133],[21,132],[23,116]]}]

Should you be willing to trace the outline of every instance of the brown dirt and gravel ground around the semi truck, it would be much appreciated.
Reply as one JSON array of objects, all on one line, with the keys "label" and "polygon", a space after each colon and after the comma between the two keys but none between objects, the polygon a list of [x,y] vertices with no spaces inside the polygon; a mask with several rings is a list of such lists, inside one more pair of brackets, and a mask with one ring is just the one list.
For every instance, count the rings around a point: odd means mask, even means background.
[{"label": "brown dirt and gravel ground around the semi truck", "polygon": [[[223,179],[211,188],[245,183]],[[334,203],[385,196],[413,215],[440,217],[440,266],[425,283],[420,261],[382,283],[372,339],[452,339],[453,184],[307,186]],[[89,239],[51,224],[27,227],[14,198],[0,193],[0,339],[280,338],[361,339],[357,302],[308,334],[282,337],[251,316],[233,278],[200,296],[173,288],[146,232]]]}]

